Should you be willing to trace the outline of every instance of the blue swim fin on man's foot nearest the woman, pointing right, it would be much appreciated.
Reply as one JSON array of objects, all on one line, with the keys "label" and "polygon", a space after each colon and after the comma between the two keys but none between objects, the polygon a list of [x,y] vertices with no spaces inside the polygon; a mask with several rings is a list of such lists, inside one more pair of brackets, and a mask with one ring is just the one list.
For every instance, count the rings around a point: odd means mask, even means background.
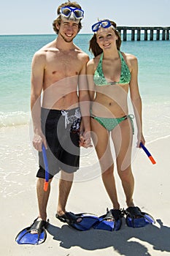
[{"label": "blue swim fin on man's foot nearest the woman, pointing right", "polygon": [[[74,214],[72,212],[66,211],[65,214],[59,216],[55,214],[55,217],[61,222],[66,222],[69,226],[75,228],[76,230],[86,231],[89,230],[96,222],[99,221],[98,217],[94,214],[81,213]],[[77,219],[82,219],[80,222],[77,222]]]}]

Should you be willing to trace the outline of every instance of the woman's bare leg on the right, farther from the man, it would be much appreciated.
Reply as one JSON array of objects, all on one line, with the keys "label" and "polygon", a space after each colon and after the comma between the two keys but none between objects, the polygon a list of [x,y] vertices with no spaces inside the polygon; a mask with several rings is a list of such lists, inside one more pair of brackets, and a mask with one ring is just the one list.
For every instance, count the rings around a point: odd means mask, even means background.
[{"label": "woman's bare leg on the right, farther from the man", "polygon": [[123,185],[127,206],[134,206],[134,176],[131,171],[132,137],[133,132],[129,119],[122,121],[112,130],[112,140],[115,145],[117,159],[117,172]]}]

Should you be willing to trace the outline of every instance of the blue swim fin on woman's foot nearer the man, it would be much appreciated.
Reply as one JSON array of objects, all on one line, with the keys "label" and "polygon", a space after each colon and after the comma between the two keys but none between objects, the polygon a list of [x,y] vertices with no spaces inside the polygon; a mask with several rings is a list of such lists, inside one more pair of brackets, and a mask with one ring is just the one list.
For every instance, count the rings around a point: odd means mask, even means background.
[{"label": "blue swim fin on woman's foot nearer the man", "polygon": [[99,217],[99,222],[96,223],[96,225],[94,225],[93,227],[99,230],[120,230],[120,227],[122,225],[122,217],[122,211],[118,209],[112,209],[109,211],[107,208],[107,214]]}]

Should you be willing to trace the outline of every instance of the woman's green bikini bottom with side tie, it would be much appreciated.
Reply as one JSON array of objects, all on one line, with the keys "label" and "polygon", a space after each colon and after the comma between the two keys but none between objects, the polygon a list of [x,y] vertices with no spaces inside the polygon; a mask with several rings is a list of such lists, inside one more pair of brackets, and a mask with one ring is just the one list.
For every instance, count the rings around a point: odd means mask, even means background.
[{"label": "woman's green bikini bottom with side tie", "polygon": [[123,116],[118,118],[106,118],[106,117],[93,116],[93,114],[91,113],[91,117],[96,121],[98,121],[98,123],[101,124],[109,132],[112,131],[112,129],[114,129],[115,127],[117,127],[117,124],[120,124],[121,121],[124,121],[125,119],[129,118],[131,121],[131,127],[134,135],[134,122],[133,122],[134,115],[128,115],[128,116]]}]

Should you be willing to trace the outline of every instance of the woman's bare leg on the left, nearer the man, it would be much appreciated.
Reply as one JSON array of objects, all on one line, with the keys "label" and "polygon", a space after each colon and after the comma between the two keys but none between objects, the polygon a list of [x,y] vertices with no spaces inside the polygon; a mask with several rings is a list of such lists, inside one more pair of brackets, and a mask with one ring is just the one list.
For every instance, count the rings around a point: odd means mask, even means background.
[{"label": "woman's bare leg on the left, nearer the man", "polygon": [[115,177],[113,175],[113,159],[109,146],[109,132],[95,119],[91,118],[92,139],[96,148],[96,154],[101,166],[102,180],[107,190],[113,208],[118,209],[120,205],[117,200]]}]

